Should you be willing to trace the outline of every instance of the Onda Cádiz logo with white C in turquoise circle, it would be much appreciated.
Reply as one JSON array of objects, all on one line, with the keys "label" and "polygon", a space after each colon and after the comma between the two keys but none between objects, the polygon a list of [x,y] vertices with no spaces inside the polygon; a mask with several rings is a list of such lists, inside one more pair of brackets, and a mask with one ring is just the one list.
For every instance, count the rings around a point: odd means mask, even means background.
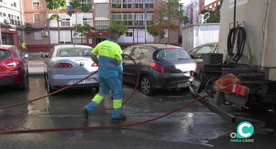
[{"label": "Onda C\u00e1diz logo with white C in turquoise circle", "polygon": [[[237,134],[232,132],[230,134],[231,142],[254,142],[254,139],[247,139],[252,136],[254,127],[250,122],[241,122],[237,127]],[[235,139],[237,137],[237,139]]]}]

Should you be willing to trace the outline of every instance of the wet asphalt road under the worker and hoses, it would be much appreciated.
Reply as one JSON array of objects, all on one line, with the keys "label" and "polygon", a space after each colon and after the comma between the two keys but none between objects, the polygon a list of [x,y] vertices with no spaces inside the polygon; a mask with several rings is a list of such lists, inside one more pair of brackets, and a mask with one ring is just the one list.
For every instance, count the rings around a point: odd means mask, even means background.
[{"label": "wet asphalt road under the worker and hoses", "polygon": [[[134,86],[124,84],[124,98]],[[29,78],[28,91],[0,88],[0,106],[21,103],[47,94],[43,78]],[[111,110],[98,107],[84,122],[81,108],[95,95],[92,89],[68,90],[25,105],[0,110],[0,131],[74,126],[120,125],[143,121],[169,112],[189,102],[189,91],[159,91],[146,97],[138,90],[123,105],[124,122],[111,122]],[[110,96],[103,101],[112,106]],[[154,122],[128,128],[0,134],[0,148],[275,148],[276,114],[247,113],[235,106],[222,106],[237,116],[231,124],[195,102],[174,114]],[[239,122],[254,126],[249,139],[254,142],[230,142]]]}]

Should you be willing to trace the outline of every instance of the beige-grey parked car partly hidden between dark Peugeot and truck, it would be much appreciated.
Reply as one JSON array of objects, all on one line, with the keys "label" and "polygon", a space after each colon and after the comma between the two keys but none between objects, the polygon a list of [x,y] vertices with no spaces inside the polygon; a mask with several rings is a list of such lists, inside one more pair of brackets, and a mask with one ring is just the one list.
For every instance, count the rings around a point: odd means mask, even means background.
[{"label": "beige-grey parked car partly hidden between dark Peugeot and truck", "polygon": [[196,61],[197,65],[199,66],[199,70],[202,70],[203,66],[203,54],[204,53],[217,53],[218,52],[218,43],[208,43],[208,44],[202,44],[200,46],[197,46],[193,49],[190,49],[187,51],[188,55]]}]

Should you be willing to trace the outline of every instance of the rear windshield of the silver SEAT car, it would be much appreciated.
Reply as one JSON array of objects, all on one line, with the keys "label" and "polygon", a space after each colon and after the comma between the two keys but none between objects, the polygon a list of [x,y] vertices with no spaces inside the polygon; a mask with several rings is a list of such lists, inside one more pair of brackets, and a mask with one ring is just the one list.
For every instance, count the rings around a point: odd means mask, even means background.
[{"label": "rear windshield of the silver SEAT car", "polygon": [[90,56],[91,51],[90,48],[60,48],[57,50],[57,57]]}]

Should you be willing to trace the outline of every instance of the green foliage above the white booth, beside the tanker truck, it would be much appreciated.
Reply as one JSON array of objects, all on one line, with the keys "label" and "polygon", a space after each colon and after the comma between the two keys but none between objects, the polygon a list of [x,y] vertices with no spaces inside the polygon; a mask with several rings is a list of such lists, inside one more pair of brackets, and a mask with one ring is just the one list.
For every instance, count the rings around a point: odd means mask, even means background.
[{"label": "green foliage above the white booth, beside the tanker truck", "polygon": [[[209,10],[202,10],[201,14],[210,13],[210,17],[206,20],[206,23],[219,23],[220,20],[220,8],[222,5],[222,1],[220,1],[220,4],[216,6],[215,11],[209,11]],[[208,15],[204,16],[204,19],[206,19]]]}]

